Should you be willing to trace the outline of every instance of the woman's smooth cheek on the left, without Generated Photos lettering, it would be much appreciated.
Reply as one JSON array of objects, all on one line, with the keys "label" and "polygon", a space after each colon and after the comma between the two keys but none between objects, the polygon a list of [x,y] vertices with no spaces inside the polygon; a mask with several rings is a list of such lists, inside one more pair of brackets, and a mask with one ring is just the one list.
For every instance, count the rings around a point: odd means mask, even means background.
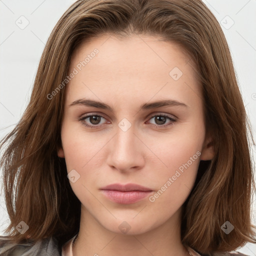
[{"label": "woman's smooth cheek on the left, without Generated Photos lettering", "polygon": [[96,184],[100,179],[98,151],[102,143],[90,134],[74,131],[71,125],[63,125],[61,140],[67,174],[75,176],[74,182],[69,178],[73,192],[83,205],[94,205],[95,198],[89,192],[88,184]]}]

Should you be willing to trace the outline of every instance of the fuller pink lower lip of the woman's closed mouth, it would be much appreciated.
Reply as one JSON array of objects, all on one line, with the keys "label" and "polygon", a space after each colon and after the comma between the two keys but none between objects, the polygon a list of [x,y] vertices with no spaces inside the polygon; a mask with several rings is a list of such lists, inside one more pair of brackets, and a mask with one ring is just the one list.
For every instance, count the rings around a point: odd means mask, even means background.
[{"label": "fuller pink lower lip of the woman's closed mouth", "polygon": [[123,204],[134,203],[148,196],[152,191],[101,190],[111,201]]}]

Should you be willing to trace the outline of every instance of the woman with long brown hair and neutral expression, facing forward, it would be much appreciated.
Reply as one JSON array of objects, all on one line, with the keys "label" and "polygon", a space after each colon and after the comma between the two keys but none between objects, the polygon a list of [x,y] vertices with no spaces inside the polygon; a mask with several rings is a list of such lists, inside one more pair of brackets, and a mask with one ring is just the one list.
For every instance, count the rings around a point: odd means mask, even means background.
[{"label": "woman with long brown hair and neutral expression, facing forward", "polygon": [[76,1],[1,143],[0,255],[232,255],[256,242],[248,128],[201,1]]}]

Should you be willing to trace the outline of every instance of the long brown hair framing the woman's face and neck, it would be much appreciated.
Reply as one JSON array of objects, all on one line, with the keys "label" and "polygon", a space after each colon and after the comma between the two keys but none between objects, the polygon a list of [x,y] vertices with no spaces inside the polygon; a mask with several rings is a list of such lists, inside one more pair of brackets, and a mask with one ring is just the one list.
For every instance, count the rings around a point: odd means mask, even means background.
[{"label": "long brown hair framing the woman's face and neck", "polygon": [[[13,242],[49,236],[64,242],[77,233],[80,201],[64,159],[57,156],[64,85],[52,91],[66,78],[73,50],[105,33],[159,35],[181,45],[197,65],[214,157],[200,162],[184,203],[182,243],[209,253],[256,242],[250,222],[255,189],[250,125],[226,39],[200,0],[78,0],[65,11],[43,50],[28,106],[1,140],[0,148],[6,145],[0,166],[10,218],[5,233]],[[23,234],[15,228],[20,221],[29,227]],[[225,221],[234,227],[229,234],[221,229]]]}]

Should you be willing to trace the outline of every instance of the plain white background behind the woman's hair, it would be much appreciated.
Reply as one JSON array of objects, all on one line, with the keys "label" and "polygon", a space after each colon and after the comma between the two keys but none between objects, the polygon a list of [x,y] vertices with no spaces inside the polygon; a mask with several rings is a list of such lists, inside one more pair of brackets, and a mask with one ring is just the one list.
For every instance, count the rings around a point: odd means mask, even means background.
[{"label": "plain white background behind the woman's hair", "polygon": [[[256,0],[203,1],[218,19],[227,38],[255,137]],[[0,0],[0,138],[21,117],[46,40],[72,2],[74,0]],[[22,15],[29,21],[24,29],[15,23]],[[255,147],[253,154],[256,159]],[[253,224],[256,224],[255,209],[254,200]],[[8,215],[1,195],[0,234],[3,234],[7,222]],[[254,256],[256,245],[247,243],[239,251]]]}]

